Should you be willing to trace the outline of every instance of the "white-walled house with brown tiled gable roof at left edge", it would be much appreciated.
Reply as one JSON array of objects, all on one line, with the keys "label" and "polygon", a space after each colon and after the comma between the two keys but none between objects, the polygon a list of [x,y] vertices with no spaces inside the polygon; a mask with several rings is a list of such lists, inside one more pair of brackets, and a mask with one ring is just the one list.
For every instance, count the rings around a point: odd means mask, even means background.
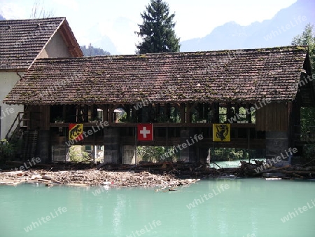
[{"label": "white-walled house with brown tiled gable roof at left edge", "polygon": [[[3,104],[3,99],[35,60],[80,56],[82,51],[66,18],[0,20],[1,139],[16,128],[19,120],[27,123],[29,119],[22,117],[23,105],[8,106]],[[15,118],[17,123],[13,124]]]}]

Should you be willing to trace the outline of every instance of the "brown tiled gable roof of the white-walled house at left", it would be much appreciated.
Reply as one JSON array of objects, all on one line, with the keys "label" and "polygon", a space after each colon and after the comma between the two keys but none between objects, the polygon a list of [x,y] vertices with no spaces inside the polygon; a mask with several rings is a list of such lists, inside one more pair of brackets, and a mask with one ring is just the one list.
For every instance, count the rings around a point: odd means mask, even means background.
[{"label": "brown tiled gable roof of the white-walled house at left", "polygon": [[83,56],[66,18],[0,21],[0,71],[25,71],[60,32],[73,57]]}]

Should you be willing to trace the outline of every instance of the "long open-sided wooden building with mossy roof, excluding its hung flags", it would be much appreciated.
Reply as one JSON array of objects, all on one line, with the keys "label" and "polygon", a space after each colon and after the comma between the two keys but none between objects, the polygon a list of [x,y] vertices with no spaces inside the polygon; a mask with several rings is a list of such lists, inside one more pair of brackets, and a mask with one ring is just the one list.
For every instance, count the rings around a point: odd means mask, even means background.
[{"label": "long open-sided wooden building with mossy roof, excluding its hung flags", "polygon": [[[137,145],[177,146],[195,135],[204,139],[181,149],[182,161],[205,161],[212,147],[261,148],[273,158],[289,147],[300,152],[312,79],[307,46],[44,58],[4,102],[27,108],[28,129],[40,135],[36,154],[47,162],[71,144],[93,144],[105,146],[104,162],[128,163]],[[92,121],[97,114],[102,122]],[[139,123],[153,124],[153,140],[135,139]],[[230,124],[229,141],[215,141],[218,123]],[[83,125],[83,140],[69,141],[71,124]]]}]

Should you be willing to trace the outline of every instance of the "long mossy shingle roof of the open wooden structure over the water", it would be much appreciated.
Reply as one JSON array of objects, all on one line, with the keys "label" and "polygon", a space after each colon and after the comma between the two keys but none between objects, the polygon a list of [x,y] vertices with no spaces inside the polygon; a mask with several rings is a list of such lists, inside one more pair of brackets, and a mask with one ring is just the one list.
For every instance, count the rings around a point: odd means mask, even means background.
[{"label": "long mossy shingle roof of the open wooden structure over the water", "polygon": [[8,104],[294,100],[306,46],[36,60]]}]

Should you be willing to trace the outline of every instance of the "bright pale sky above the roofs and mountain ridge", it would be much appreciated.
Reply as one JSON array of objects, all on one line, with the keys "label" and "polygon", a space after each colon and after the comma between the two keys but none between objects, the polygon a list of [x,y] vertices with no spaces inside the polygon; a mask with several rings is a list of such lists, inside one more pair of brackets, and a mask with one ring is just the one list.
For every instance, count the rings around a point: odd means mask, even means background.
[{"label": "bright pale sky above the roofs and mountain ridge", "polygon": [[[226,22],[250,25],[271,19],[297,0],[165,0],[175,13],[176,36],[181,41],[204,37]],[[0,0],[0,14],[7,20],[27,19],[34,0]],[[37,0],[55,17],[66,17],[80,45],[134,54],[139,42],[134,32],[142,23],[140,13],[150,0]]]}]

